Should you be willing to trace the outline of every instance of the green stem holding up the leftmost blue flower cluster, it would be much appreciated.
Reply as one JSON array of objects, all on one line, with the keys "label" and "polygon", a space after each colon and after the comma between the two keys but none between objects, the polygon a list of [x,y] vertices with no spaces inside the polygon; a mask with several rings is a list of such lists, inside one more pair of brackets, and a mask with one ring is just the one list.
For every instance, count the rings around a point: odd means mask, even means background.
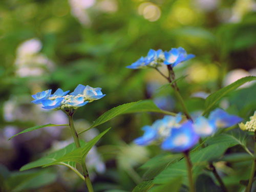
[{"label": "green stem holding up the leftmost blue flower cluster", "polygon": [[[71,130],[72,136],[74,138],[76,148],[79,148],[79,147],[81,147],[81,145],[80,145],[79,138],[78,138],[78,135],[75,130],[75,126],[74,126],[74,122],[73,122],[73,113],[69,113],[68,117],[69,117],[70,130]],[[92,186],[89,174],[88,174],[86,162],[83,159],[82,159],[82,170],[83,170],[84,180],[86,181],[86,184],[87,184],[87,188],[88,188],[89,192],[93,192],[93,186]]]}]

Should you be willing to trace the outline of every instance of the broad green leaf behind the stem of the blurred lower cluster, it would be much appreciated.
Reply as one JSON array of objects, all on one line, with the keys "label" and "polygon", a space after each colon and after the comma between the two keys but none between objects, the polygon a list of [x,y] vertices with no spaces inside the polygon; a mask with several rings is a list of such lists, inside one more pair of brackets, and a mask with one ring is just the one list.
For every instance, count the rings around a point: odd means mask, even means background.
[{"label": "broad green leaf behind the stem of the blurred lower cluster", "polygon": [[[209,161],[219,159],[225,153],[227,148],[241,144],[237,138],[223,137],[222,135],[209,138],[207,143],[210,145],[202,148],[200,151],[190,153],[190,159],[193,163],[194,179],[196,179],[201,170],[208,165]],[[155,177],[154,183],[165,184],[176,177],[183,177],[184,184],[187,184],[187,169],[184,159],[177,163],[170,164],[163,170],[163,172]]]}]

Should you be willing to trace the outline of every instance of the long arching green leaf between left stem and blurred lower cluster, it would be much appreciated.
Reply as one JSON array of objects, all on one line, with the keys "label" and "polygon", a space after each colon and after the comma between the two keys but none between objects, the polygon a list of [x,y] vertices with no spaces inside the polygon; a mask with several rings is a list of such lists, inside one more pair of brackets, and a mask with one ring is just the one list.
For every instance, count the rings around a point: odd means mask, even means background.
[{"label": "long arching green leaf between left stem and blurred lower cluster", "polygon": [[164,114],[173,115],[173,116],[176,115],[176,113],[160,110],[152,100],[125,103],[125,104],[116,106],[115,108],[112,108],[109,111],[106,111],[98,119],[96,119],[88,129],[79,132],[78,135],[106,121],[109,121],[110,119],[118,115],[138,113],[138,112],[157,112],[157,113],[164,113]]}]

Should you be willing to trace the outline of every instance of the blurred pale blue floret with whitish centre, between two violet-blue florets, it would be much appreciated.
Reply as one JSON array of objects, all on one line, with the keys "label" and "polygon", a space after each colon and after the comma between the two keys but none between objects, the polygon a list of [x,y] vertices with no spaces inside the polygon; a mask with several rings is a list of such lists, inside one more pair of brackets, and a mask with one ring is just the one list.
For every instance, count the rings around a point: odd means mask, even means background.
[{"label": "blurred pale blue floret with whitish centre, between two violet-blue florets", "polygon": [[207,137],[217,131],[215,121],[208,120],[205,117],[198,117],[194,123],[195,132],[201,137]]}]

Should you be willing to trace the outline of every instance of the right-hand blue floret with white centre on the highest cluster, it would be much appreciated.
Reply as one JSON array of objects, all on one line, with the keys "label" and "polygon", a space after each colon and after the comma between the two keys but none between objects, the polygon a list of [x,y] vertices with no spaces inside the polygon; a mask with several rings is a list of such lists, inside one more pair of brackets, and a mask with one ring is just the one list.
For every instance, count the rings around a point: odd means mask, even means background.
[{"label": "right-hand blue floret with white centre on the highest cluster", "polygon": [[177,66],[180,62],[186,61],[188,59],[194,58],[195,55],[187,54],[185,49],[179,47],[178,49],[172,48],[170,51],[164,52],[164,64],[165,65],[172,65],[172,67]]}]

